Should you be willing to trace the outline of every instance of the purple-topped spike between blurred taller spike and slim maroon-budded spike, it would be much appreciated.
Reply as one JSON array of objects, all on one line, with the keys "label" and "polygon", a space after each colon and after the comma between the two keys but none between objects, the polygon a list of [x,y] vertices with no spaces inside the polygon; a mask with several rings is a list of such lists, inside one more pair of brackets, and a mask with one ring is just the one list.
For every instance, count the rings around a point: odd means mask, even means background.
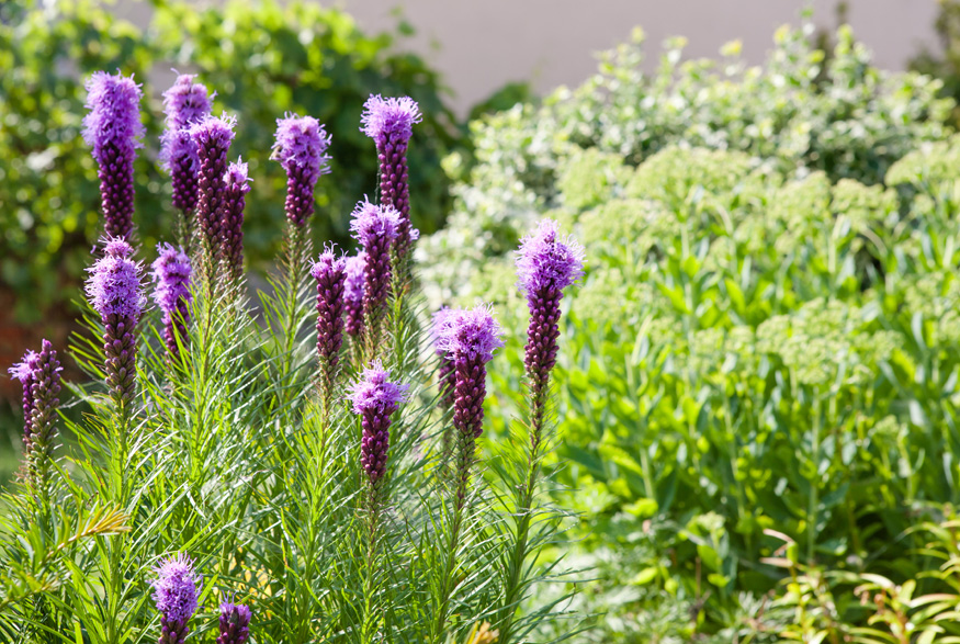
[{"label": "purple-topped spike between blurred taller spike and slim maroon-budded spike", "polygon": [[226,202],[227,152],[234,140],[236,123],[236,118],[226,114],[219,118],[206,116],[191,125],[189,131],[200,158],[199,194],[194,218],[201,234],[204,260],[210,264],[204,267],[204,270],[211,271],[211,274],[206,275],[207,279],[212,279],[213,267],[222,257],[221,212]]}]

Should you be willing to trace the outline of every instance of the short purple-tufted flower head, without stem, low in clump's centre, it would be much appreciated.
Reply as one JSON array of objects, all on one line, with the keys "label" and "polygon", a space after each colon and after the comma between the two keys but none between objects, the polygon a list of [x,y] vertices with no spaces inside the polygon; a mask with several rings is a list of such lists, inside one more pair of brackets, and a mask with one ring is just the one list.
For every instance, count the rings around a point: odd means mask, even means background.
[{"label": "short purple-tufted flower head, without stem, low in clump's centre", "polygon": [[389,382],[389,370],[374,361],[350,391],[353,411],[361,416],[360,465],[371,486],[386,472],[391,415],[407,399],[407,385]]}]

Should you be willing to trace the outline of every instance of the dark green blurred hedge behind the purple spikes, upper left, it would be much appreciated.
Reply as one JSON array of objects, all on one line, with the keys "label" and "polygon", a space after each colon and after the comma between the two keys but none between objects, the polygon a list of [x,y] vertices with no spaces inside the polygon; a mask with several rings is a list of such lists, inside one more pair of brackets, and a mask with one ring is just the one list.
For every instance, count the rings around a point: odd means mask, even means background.
[{"label": "dark green blurred hedge behind the purple spikes, upper left", "polygon": [[[423,122],[410,148],[415,224],[436,230],[448,207],[440,159],[456,143],[440,81],[415,56],[395,54],[393,37],[366,36],[353,20],[314,2],[227,2],[196,10],[157,2],[142,32],[99,3],[37,2],[0,22],[0,275],[16,294],[21,321],[63,303],[100,230],[97,171],[80,137],[83,79],[121,69],[145,81],[146,148],[137,160],[140,239],[169,236],[169,180],[157,165],[162,127],[159,94],[171,67],[197,72],[221,93],[214,110],[238,115],[231,154],[250,160],[245,242],[252,262],[273,257],[283,221],[283,171],[266,161],[275,118],[286,111],[327,123],[332,176],[318,185],[318,239],[347,236],[355,201],[375,185],[373,143],[358,128],[370,93],[408,94]],[[109,9],[109,8],[108,8]]]}]

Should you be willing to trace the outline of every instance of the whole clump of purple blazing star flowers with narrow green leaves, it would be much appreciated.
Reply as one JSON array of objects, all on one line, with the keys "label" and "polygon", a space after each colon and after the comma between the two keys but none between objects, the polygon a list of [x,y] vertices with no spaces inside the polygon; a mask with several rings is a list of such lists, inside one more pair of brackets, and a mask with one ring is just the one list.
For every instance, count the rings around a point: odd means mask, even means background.
[{"label": "whole clump of purple blazing star flowers with narrow green leaves", "polygon": [[[556,575],[539,561],[562,518],[541,500],[540,462],[553,444],[558,302],[580,258],[566,278],[551,262],[575,245],[549,226],[552,237],[531,237],[529,407],[509,439],[484,445],[500,329],[481,305],[444,310],[434,343],[426,332],[410,261],[411,101],[372,98],[364,115],[380,199],[354,212],[365,256],[350,309],[346,259],[328,247],[313,261],[307,234],[327,159],[315,121],[278,131],[284,251],[270,292],[252,298],[237,270],[246,167],[225,173],[233,121],[182,118],[173,134],[188,147],[170,170],[197,199],[181,200],[193,205],[170,238],[190,252],[160,247],[147,287],[147,252],[124,218],[137,133],[121,125],[138,118],[137,88],[118,75],[90,87],[86,134],[120,233],[91,257],[84,331],[69,348],[89,376],[66,385],[82,419],[57,420],[67,395],[48,343],[14,369],[27,457],[0,501],[2,636],[479,644],[526,641],[555,617],[555,601],[530,594]],[[345,327],[351,310],[362,328]],[[65,422],[76,449],[57,443]]]}]

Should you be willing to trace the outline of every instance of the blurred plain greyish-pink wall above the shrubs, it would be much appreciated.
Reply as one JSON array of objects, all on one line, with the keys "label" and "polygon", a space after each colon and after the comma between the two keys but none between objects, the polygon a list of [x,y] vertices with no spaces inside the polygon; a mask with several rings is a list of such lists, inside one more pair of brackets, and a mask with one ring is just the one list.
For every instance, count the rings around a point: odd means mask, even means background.
[{"label": "blurred plain greyish-pink wall above the shrubs", "polygon": [[[658,50],[670,36],[689,41],[687,55],[715,56],[730,41],[760,63],[771,34],[800,22],[806,7],[833,30],[849,22],[874,53],[878,67],[904,69],[924,48],[936,49],[937,0],[337,0],[366,32],[415,30],[404,47],[420,54],[453,90],[459,115],[508,82],[529,81],[537,93],[575,86],[596,68],[595,52],[613,47],[641,25]],[[120,0],[118,14],[145,24],[149,5]],[[839,13],[839,15],[838,15]],[[845,20],[844,20],[845,18]],[[656,58],[647,60],[656,66]]]}]

